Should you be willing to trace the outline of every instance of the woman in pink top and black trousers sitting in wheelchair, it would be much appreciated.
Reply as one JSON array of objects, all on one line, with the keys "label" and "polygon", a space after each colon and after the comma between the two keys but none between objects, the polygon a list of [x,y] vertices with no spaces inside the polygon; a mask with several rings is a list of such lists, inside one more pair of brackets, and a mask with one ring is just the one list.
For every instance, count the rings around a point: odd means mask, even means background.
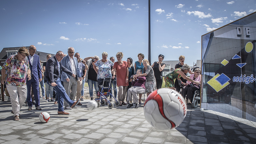
[{"label": "woman in pink top and black trousers sitting in wheelchair", "polygon": [[[190,75],[189,78],[193,79],[196,82],[200,82],[201,83],[200,71],[201,71],[200,68],[196,68],[195,71],[194,71],[195,74]],[[193,82],[190,82],[190,81],[187,81],[186,86],[184,86],[182,88],[181,95],[183,96],[184,99],[185,99],[185,97],[187,98],[188,104],[191,104],[191,99],[192,99],[192,97],[194,95],[194,92],[196,90],[199,90],[199,85],[194,84]]]}]

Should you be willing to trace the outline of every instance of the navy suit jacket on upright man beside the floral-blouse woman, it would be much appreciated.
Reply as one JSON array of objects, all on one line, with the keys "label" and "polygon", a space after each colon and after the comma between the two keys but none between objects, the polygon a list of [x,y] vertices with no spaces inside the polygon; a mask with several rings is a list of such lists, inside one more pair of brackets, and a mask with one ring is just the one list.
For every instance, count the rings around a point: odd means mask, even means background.
[{"label": "navy suit jacket on upright man beside the floral-blouse woman", "polygon": [[28,57],[28,63],[29,63],[29,68],[31,70],[31,74],[33,74],[34,79],[38,81],[39,78],[42,78],[42,71],[41,71],[39,56],[34,54],[33,66],[31,65],[29,57]]}]

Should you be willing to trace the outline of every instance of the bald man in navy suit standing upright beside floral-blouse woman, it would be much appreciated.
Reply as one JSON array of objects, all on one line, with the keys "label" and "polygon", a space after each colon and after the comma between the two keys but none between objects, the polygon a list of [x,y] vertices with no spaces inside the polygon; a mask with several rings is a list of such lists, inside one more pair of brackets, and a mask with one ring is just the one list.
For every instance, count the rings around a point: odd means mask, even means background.
[{"label": "bald man in navy suit standing upright beside floral-blouse woman", "polygon": [[36,47],[34,45],[30,45],[28,48],[28,63],[29,68],[31,70],[31,80],[27,78],[27,102],[28,102],[28,110],[32,110],[32,99],[31,99],[31,86],[33,88],[34,97],[36,100],[35,107],[37,110],[42,110],[40,108],[40,95],[39,95],[39,82],[42,81],[42,72],[41,72],[41,64],[39,60],[39,56],[36,55]]}]

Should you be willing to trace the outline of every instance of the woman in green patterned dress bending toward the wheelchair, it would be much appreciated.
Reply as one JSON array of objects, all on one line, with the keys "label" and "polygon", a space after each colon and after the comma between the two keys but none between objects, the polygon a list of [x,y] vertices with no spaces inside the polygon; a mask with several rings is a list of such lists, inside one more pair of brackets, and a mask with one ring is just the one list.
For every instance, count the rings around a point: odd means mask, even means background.
[{"label": "woman in green patterned dress bending toward the wheelchair", "polygon": [[[192,79],[190,79],[188,76],[186,76],[185,74],[187,74],[190,71],[190,67],[188,64],[184,64],[182,66],[182,68],[176,68],[174,71],[170,72],[169,74],[167,74],[164,77],[164,81],[165,81],[165,87],[169,87],[170,89],[174,89],[174,79],[183,77],[184,79],[193,82],[196,85],[201,84],[201,82],[196,82]],[[184,74],[185,73],[185,74]]]}]

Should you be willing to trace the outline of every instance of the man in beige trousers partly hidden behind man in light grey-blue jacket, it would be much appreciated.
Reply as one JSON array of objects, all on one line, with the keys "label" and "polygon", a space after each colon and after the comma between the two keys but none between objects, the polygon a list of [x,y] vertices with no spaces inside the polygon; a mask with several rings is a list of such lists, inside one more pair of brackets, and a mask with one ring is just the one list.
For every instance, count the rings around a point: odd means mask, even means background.
[{"label": "man in beige trousers partly hidden behind man in light grey-blue jacket", "polygon": [[[85,63],[85,61],[80,58],[80,54],[78,52],[75,53],[75,57],[77,58],[79,72],[81,73],[81,76],[83,79],[82,81],[77,80],[76,100],[81,98],[81,100],[83,101],[84,93],[83,95],[81,95],[81,93],[82,93],[82,88],[84,89],[83,85],[85,81],[86,70],[88,70],[88,66]],[[79,102],[78,105],[82,105],[82,104]]]}]

